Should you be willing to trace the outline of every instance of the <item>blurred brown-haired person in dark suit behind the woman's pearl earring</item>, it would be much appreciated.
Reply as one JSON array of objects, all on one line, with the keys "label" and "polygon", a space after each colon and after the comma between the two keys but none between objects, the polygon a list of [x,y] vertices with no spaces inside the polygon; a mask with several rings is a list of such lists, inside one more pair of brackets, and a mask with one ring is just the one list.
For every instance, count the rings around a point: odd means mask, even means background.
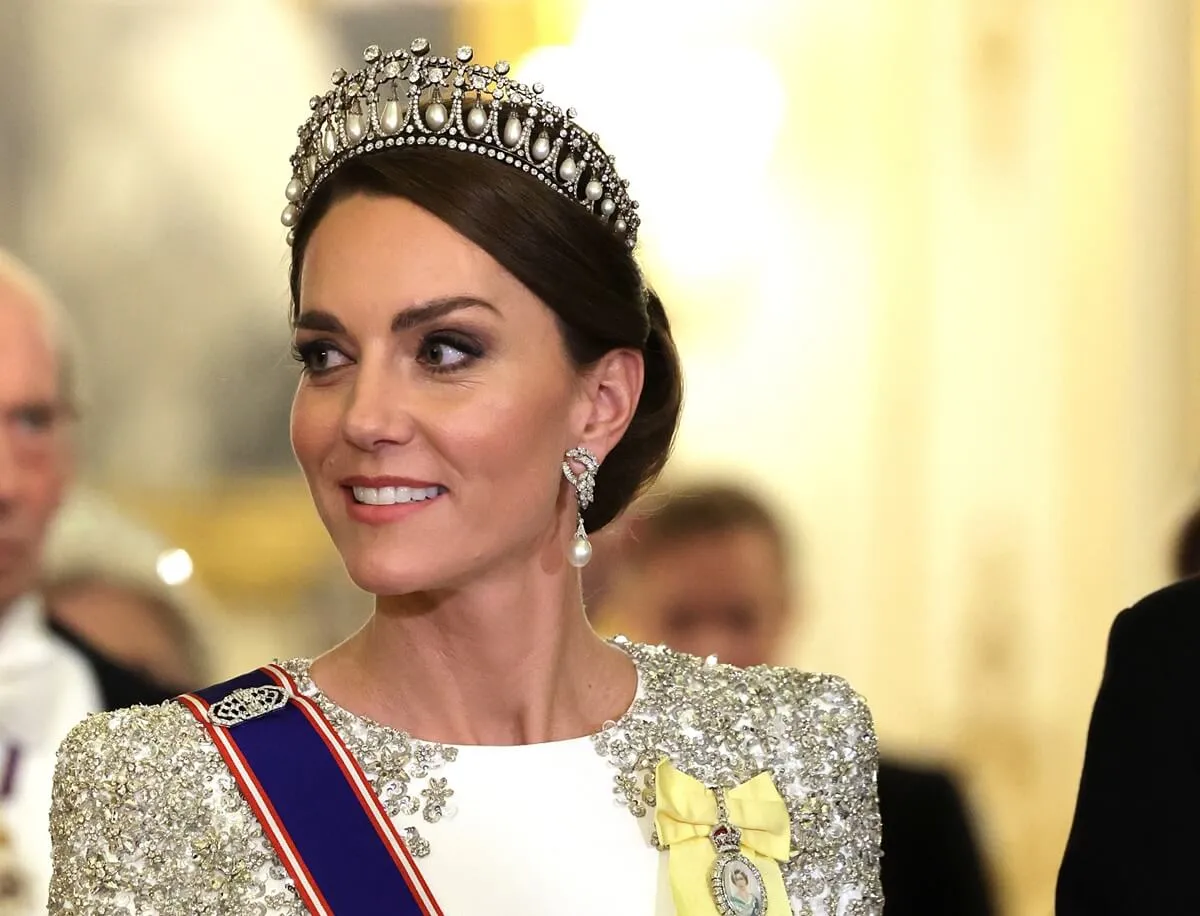
[{"label": "blurred brown-haired person in dark suit behind the woman's pearl earring", "polygon": [[[593,616],[620,631],[739,666],[778,664],[798,601],[782,523],[766,501],[714,483],[644,497],[611,538]],[[588,570],[590,573],[590,569]],[[887,916],[986,916],[994,904],[964,800],[946,772],[883,756]]]}]

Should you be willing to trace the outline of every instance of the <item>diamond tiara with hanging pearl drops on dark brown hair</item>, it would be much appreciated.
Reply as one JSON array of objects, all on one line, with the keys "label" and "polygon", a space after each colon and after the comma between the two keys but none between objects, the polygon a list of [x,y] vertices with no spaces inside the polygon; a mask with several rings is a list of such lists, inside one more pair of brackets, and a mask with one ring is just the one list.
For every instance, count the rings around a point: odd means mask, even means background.
[{"label": "diamond tiara with hanging pearl drops on dark brown hair", "polygon": [[629,247],[637,240],[637,200],[629,197],[600,138],[575,122],[574,108],[546,102],[541,83],[509,78],[509,65],[473,64],[458,48],[443,58],[415,38],[408,49],[362,52],[355,73],[334,71],[334,88],[314,96],[298,131],[288,205],[288,244],[313,192],[347,160],[396,146],[440,146],[504,162],[586,206]]}]

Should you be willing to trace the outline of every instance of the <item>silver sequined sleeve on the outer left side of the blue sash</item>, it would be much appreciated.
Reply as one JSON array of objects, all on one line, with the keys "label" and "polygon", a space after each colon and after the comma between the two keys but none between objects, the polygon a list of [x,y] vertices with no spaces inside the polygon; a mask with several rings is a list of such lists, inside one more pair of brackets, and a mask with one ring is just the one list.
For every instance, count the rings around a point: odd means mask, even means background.
[{"label": "silver sequined sleeve on the outer left side of the blue sash", "polygon": [[204,726],[180,702],[96,713],[59,748],[49,916],[299,912]]}]

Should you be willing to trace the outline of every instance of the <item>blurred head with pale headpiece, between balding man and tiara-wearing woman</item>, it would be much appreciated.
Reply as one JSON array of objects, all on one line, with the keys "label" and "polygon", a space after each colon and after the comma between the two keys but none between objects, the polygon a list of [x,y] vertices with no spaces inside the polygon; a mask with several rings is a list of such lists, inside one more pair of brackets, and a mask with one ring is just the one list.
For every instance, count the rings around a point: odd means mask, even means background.
[{"label": "blurred head with pale headpiece, between balding man and tiara-wearing woman", "polygon": [[[180,571],[179,563],[187,565]],[[163,690],[193,690],[205,683],[206,653],[190,564],[106,499],[77,489],[46,547],[41,592],[50,625]]]}]

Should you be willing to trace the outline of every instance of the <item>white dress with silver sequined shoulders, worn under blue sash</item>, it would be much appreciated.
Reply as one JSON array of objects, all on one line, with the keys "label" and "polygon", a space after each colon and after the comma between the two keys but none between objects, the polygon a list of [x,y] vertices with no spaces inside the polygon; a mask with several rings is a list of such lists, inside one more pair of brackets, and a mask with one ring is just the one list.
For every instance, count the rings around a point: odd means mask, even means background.
[{"label": "white dress with silver sequined shoulders, worn under blue sash", "polygon": [[[520,747],[415,741],[334,705],[306,661],[283,667],[359,759],[446,916],[674,914],[647,803],[662,756],[714,785],[769,770],[792,815],[791,911],[880,914],[875,736],[846,683],[625,648],[640,677],[629,713],[595,736]],[[52,914],[305,912],[215,747],[178,705],[76,729],[52,833]]]}]

